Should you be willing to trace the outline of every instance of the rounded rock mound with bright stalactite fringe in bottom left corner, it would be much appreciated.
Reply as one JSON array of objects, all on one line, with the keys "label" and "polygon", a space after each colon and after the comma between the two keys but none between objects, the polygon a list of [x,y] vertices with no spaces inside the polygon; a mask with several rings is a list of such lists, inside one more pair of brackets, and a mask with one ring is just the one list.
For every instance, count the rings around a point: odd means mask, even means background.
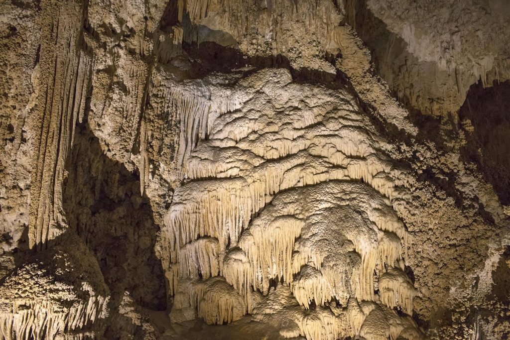
[{"label": "rounded rock mound with bright stalactite fringe in bottom left corner", "polygon": [[78,238],[66,241],[72,246],[36,255],[0,285],[3,339],[81,339],[104,327],[108,287],[85,245]]}]

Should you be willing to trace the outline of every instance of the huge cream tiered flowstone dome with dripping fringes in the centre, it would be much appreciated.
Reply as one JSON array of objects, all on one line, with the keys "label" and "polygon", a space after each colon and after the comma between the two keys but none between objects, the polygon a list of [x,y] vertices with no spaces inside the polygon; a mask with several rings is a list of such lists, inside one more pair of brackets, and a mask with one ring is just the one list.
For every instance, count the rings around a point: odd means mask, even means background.
[{"label": "huge cream tiered flowstone dome with dripping fringes in the centre", "polygon": [[[358,334],[347,318],[349,301],[412,313],[414,286],[402,271],[408,233],[391,205],[405,204],[412,180],[392,164],[387,143],[353,98],[293,83],[285,69],[262,70],[231,87],[226,99],[234,103],[226,110],[197,106],[191,113],[199,119],[188,125],[190,134],[203,124],[209,135],[184,158],[184,183],[163,230],[173,308],[197,306],[208,323],[231,322],[257,310],[253,294],[267,295],[271,281],[281,281],[304,306],[292,319],[307,338]],[[328,307],[302,315],[312,301],[338,301],[339,315]],[[390,329],[380,318],[356,322],[374,338]],[[411,338],[420,338],[415,330]]]}]

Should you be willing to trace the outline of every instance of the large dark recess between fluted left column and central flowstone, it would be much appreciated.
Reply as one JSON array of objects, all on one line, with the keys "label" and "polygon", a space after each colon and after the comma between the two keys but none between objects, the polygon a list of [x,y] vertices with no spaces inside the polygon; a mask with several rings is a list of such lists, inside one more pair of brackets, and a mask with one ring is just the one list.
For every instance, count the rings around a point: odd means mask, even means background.
[{"label": "large dark recess between fluted left column and central flowstone", "polygon": [[165,310],[163,267],[155,253],[160,227],[140,193],[139,174],[104,153],[86,118],[76,126],[66,171],[65,216],[99,264],[110,310],[118,309],[124,291],[144,308]]}]

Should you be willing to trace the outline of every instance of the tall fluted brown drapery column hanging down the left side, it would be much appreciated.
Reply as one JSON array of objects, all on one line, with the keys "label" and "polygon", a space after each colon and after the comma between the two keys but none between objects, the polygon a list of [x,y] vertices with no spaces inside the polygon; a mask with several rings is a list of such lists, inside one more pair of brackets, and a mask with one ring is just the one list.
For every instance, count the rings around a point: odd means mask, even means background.
[{"label": "tall fluted brown drapery column hanging down the left side", "polygon": [[[54,8],[55,7],[55,8]],[[82,28],[81,5],[61,3],[44,6],[51,24],[42,31],[41,77],[38,118],[34,119],[35,157],[30,201],[30,247],[43,244],[62,232],[62,186],[65,162],[74,126],[85,110],[91,72],[90,56],[74,43]],[[56,17],[54,13],[59,13]],[[53,31],[53,27],[56,31]]]}]

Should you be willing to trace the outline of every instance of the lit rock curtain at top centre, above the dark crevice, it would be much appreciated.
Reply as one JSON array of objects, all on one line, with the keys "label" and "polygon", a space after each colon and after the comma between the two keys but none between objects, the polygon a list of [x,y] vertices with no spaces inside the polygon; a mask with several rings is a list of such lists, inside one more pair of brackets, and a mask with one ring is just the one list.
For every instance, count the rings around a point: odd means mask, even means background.
[{"label": "lit rock curtain at top centre, above the dark crevice", "polygon": [[295,69],[336,72],[324,58],[331,45],[335,45],[332,33],[342,18],[333,2],[186,0],[178,3],[177,10],[183,13],[185,41],[214,41],[239,48],[247,56],[283,55]]}]

